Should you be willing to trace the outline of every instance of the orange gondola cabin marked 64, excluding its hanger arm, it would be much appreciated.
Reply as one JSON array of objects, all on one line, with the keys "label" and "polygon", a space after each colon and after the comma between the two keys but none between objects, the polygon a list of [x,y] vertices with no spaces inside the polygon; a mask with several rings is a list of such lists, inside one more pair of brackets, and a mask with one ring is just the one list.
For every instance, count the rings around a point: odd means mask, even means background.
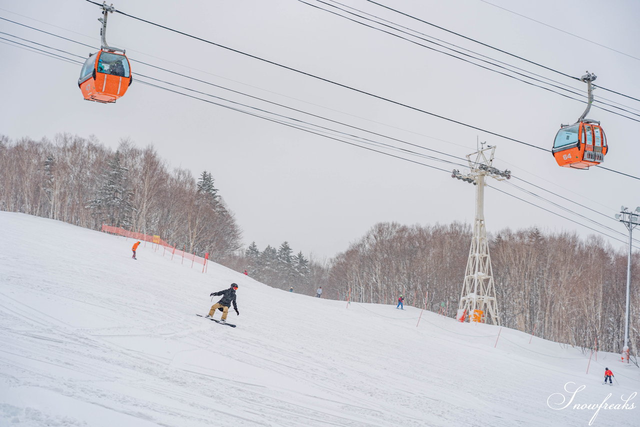
[{"label": "orange gondola cabin marked 64, excluding its hanger arm", "polygon": [[589,169],[604,162],[607,150],[600,124],[584,121],[560,128],[552,153],[559,166]]}]

